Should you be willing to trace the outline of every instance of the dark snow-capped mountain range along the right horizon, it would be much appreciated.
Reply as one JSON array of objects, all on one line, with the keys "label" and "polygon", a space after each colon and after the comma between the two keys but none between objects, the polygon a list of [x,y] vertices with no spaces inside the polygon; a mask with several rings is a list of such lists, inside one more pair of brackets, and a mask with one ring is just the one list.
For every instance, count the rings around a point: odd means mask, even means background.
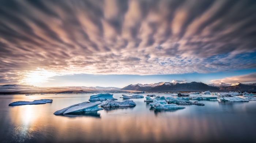
[{"label": "dark snow-capped mountain range along the right horizon", "polygon": [[137,90],[145,92],[256,92],[256,83],[254,84],[204,84],[202,82],[175,83],[175,82],[159,82],[155,84],[131,84],[122,88],[122,90]]}]

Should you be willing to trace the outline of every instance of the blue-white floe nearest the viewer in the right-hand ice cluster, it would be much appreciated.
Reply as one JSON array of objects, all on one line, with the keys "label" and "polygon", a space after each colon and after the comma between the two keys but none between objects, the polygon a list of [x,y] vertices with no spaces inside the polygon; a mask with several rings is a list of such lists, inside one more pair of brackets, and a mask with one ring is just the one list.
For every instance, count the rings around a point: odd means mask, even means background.
[{"label": "blue-white floe nearest the viewer in the right-hand ice cluster", "polygon": [[153,103],[149,104],[150,107],[153,107],[155,109],[182,109],[182,108],[186,108],[184,106],[180,106],[177,104],[166,104],[163,102],[163,100],[156,100],[154,99]]}]

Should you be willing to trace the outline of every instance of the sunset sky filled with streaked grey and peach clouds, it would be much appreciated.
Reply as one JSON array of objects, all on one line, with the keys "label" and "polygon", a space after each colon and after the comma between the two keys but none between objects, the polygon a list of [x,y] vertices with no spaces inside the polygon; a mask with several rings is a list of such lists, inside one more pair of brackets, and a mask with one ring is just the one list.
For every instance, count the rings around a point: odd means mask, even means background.
[{"label": "sunset sky filled with streaked grey and peach clouds", "polygon": [[0,85],[256,82],[255,0],[1,0]]}]

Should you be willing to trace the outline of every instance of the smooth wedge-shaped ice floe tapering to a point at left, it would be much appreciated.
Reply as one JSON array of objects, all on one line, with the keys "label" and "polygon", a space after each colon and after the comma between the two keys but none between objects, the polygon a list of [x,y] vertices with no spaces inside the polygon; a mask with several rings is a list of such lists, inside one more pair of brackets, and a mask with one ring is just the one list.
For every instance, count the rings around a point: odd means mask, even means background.
[{"label": "smooth wedge-shaped ice floe tapering to a point at left", "polygon": [[63,108],[54,112],[53,114],[67,114],[67,113],[76,113],[76,112],[87,112],[87,111],[98,111],[102,110],[103,108],[98,107],[101,104],[101,101],[97,102],[83,102],[75,105],[71,105],[67,108]]}]

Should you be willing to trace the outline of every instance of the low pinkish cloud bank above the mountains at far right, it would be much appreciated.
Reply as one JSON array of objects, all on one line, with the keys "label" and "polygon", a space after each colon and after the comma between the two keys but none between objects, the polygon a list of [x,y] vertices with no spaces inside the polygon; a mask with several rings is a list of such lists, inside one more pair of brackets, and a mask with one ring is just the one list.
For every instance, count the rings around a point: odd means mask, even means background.
[{"label": "low pinkish cloud bank above the mountains at far right", "polygon": [[217,80],[211,80],[213,83],[227,83],[232,84],[236,82],[256,82],[256,73],[245,74],[241,76],[226,77]]}]

